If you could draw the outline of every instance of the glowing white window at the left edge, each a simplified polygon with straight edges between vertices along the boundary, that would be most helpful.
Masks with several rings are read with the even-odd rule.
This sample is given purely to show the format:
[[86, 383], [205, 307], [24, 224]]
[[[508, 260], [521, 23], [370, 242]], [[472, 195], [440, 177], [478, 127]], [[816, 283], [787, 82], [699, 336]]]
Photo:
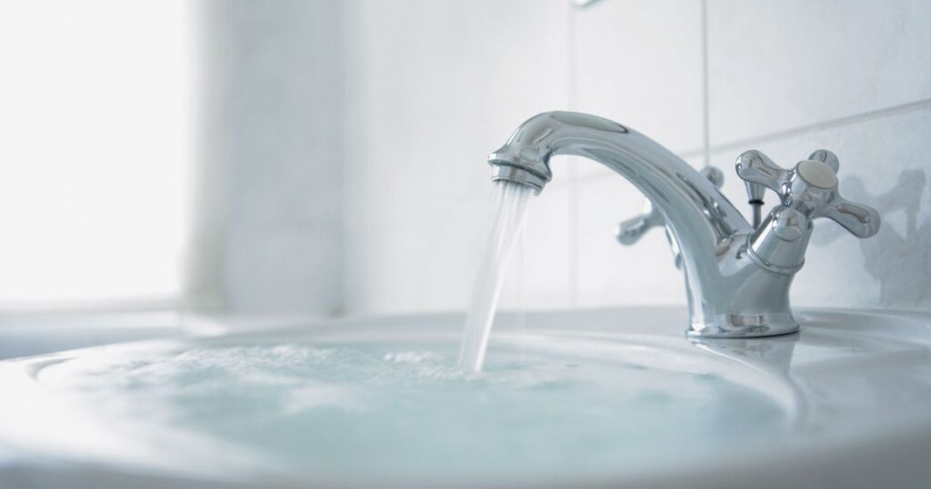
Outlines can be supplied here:
[[191, 4], [0, 0], [0, 307], [180, 297]]

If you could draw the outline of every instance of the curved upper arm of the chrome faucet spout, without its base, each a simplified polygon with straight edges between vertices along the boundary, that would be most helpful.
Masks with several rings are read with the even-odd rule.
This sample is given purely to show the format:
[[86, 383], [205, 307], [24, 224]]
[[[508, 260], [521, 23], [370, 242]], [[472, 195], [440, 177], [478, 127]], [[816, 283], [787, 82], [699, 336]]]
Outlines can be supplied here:
[[542, 190], [552, 178], [550, 158], [560, 155], [593, 159], [636, 185], [663, 214], [693, 276], [708, 274], [704, 268], [717, 263], [713, 258], [721, 254], [722, 243], [752, 230], [727, 197], [679, 156], [640, 132], [595, 115], [548, 112], [531, 117], [489, 156], [495, 167], [492, 180]]

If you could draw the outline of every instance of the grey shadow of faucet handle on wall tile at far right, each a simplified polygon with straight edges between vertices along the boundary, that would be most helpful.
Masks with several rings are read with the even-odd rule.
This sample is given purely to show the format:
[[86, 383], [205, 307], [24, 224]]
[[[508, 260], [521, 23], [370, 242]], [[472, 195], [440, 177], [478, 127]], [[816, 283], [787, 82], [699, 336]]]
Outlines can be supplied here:
[[[884, 220], [876, 236], [858, 240], [864, 268], [880, 283], [880, 306], [931, 306], [931, 216], [918, 224], [926, 183], [924, 170], [903, 170], [898, 183], [880, 195], [870, 195], [857, 176], [841, 184], [844, 197], [869, 202]], [[886, 219], [897, 211], [905, 211], [904, 235]], [[825, 246], [843, 235], [839, 226], [827, 227], [813, 235], [813, 244]]]

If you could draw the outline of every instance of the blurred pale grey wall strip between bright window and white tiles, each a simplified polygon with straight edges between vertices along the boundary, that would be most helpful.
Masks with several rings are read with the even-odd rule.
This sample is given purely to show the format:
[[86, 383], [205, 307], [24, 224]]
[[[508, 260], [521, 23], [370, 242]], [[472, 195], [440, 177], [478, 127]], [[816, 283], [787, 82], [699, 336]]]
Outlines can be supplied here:
[[342, 309], [342, 11], [331, 0], [204, 3], [203, 165], [193, 309]]

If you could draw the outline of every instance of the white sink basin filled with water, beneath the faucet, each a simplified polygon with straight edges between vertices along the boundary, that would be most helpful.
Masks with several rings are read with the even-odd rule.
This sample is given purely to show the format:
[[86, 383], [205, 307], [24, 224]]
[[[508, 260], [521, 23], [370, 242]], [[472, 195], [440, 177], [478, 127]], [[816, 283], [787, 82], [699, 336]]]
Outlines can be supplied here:
[[931, 318], [809, 310], [690, 340], [687, 313], [318, 321], [0, 362], [0, 485], [889, 487], [931, 482]]

